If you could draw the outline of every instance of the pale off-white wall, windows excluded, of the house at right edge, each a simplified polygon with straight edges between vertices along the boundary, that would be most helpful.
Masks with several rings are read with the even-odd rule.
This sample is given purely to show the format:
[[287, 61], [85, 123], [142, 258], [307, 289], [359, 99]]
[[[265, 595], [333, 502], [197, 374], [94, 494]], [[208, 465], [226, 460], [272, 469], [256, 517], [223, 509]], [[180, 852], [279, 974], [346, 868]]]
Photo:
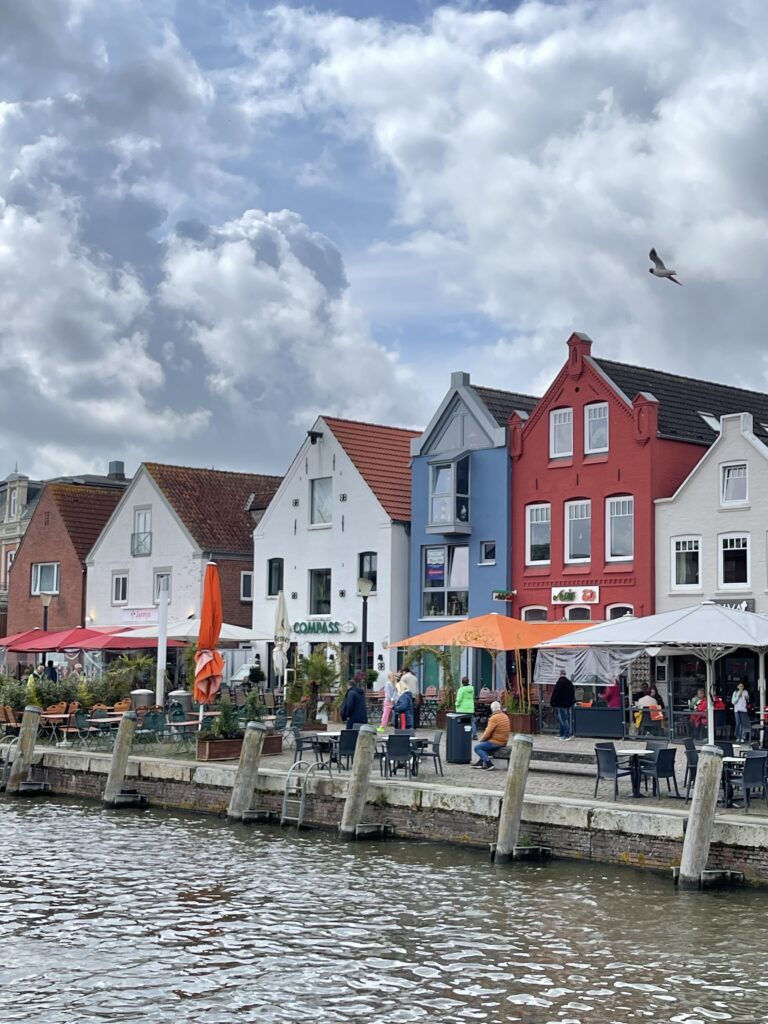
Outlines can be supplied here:
[[[695, 604], [707, 598], [733, 601], [754, 598], [756, 610], [768, 612], [768, 449], [752, 432], [749, 413], [724, 416], [721, 434], [672, 498], [656, 506], [656, 611]], [[746, 463], [748, 501], [741, 507], [720, 502], [721, 471], [726, 463]], [[719, 538], [722, 534], [750, 535], [750, 587], [721, 588], [718, 580]], [[672, 539], [698, 535], [700, 586], [675, 591], [672, 587]]]

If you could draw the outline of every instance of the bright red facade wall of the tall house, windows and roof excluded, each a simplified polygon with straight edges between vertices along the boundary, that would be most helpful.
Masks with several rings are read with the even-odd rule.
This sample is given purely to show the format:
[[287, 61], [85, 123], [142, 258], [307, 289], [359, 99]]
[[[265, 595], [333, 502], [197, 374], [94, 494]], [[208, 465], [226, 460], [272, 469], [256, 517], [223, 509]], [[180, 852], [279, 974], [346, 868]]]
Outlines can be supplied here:
[[[593, 620], [606, 618], [612, 604], [631, 604], [636, 615], [654, 610], [655, 510], [654, 498], [667, 497], [703, 455], [698, 444], [656, 437], [656, 410], [640, 398], [628, 406], [613, 387], [583, 356], [589, 344], [571, 338], [569, 360], [530, 419], [510, 427], [512, 457], [512, 587], [517, 596], [512, 614], [528, 605], [548, 608], [548, 617], [563, 618], [565, 608], [553, 606], [553, 587], [599, 587]], [[577, 349], [574, 352], [573, 349]], [[581, 350], [581, 351], [580, 351]], [[581, 356], [581, 357], [580, 357]], [[633, 400], [634, 395], [630, 395]], [[607, 401], [609, 451], [585, 455], [584, 407]], [[573, 410], [573, 455], [550, 459], [550, 410]], [[632, 495], [635, 499], [635, 556], [632, 561], [605, 558], [605, 501]], [[564, 561], [564, 503], [589, 499], [592, 503], [592, 559], [584, 564]], [[546, 566], [525, 565], [525, 517], [530, 504], [549, 502], [551, 560]]]

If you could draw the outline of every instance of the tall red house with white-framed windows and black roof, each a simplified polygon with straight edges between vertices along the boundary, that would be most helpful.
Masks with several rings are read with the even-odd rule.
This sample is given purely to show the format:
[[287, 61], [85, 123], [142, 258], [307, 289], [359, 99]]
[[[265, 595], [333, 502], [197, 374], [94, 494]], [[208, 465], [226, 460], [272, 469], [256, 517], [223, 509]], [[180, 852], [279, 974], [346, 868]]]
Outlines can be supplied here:
[[527, 420], [510, 419], [513, 614], [602, 620], [655, 604], [654, 500], [768, 396], [595, 358], [583, 334]]

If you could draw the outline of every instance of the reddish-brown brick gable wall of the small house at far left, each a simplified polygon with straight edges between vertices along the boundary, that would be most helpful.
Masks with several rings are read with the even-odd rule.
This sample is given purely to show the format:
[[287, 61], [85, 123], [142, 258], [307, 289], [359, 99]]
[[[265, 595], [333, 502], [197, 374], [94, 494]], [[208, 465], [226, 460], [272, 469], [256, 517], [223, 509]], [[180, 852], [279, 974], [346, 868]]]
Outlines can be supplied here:
[[[45, 523], [45, 513], [48, 523]], [[56, 504], [43, 490], [27, 532], [18, 546], [8, 587], [8, 633], [20, 633], [43, 625], [43, 606], [33, 596], [32, 566], [37, 562], [58, 562], [59, 593], [51, 598], [48, 608], [48, 629], [63, 630], [83, 625], [83, 563], [70, 541]]]

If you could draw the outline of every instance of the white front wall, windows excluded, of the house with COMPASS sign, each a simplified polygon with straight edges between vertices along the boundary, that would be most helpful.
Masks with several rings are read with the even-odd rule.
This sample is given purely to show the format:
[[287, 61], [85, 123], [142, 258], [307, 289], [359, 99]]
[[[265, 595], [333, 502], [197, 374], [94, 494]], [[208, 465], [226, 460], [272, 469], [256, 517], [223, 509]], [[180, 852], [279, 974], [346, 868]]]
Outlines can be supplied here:
[[[384, 656], [386, 671], [394, 669], [396, 651], [384, 644], [407, 636], [409, 539], [403, 525], [393, 523], [378, 499], [357, 472], [328, 425], [319, 420], [315, 429], [324, 436], [309, 439], [286, 475], [269, 508], [254, 531], [253, 628], [272, 634], [276, 598], [267, 596], [267, 562], [285, 559], [284, 591], [292, 623], [331, 618], [350, 623], [353, 631], [340, 635], [294, 635], [308, 649], [310, 642], [325, 638], [335, 643], [360, 643], [362, 601], [357, 596], [357, 556], [362, 551], [378, 555], [377, 592], [368, 602], [368, 640], [374, 644], [374, 665]], [[309, 522], [310, 487], [314, 477], [333, 478], [333, 522], [312, 526]], [[344, 501], [340, 495], [346, 495]], [[298, 505], [294, 505], [294, 502]], [[331, 568], [331, 613], [309, 614], [309, 569]], [[339, 596], [339, 591], [345, 596]], [[291, 595], [295, 593], [294, 598]], [[264, 662], [266, 647], [261, 645]]]

